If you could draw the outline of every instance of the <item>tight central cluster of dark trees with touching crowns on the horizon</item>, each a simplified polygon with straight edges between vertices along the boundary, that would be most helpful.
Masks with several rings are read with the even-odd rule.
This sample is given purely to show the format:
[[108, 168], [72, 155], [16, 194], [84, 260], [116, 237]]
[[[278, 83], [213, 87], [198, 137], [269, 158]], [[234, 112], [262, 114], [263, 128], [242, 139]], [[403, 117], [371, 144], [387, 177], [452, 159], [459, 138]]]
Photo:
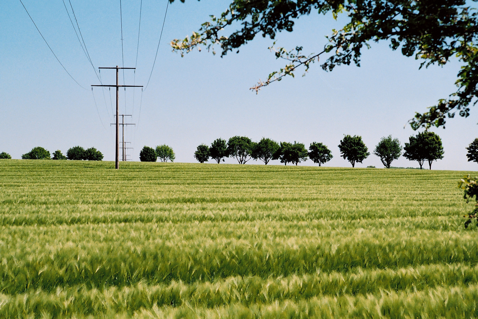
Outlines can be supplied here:
[[293, 163], [295, 165], [310, 158], [319, 166], [333, 157], [330, 150], [322, 143], [311, 143], [309, 151], [303, 143], [277, 143], [274, 140], [263, 137], [259, 142], [252, 142], [246, 136], [234, 136], [227, 142], [221, 138], [216, 139], [211, 146], [201, 144], [197, 146], [194, 157], [204, 163], [212, 158], [219, 164], [226, 157], [234, 157], [239, 164], [246, 164], [250, 159], [261, 160], [265, 165], [271, 160], [280, 160], [281, 163]]

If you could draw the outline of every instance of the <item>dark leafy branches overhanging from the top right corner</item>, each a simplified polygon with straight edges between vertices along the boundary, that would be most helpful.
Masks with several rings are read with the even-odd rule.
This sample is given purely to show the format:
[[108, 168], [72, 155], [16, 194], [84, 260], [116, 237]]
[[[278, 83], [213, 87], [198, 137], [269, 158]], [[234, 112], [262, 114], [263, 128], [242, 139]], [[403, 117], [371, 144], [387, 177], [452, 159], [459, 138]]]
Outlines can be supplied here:
[[[174, 0], [171, 0], [171, 2]], [[184, 0], [181, 0], [184, 2]], [[468, 2], [469, 3], [469, 2]], [[445, 118], [469, 115], [470, 104], [478, 97], [478, 15], [465, 0], [234, 0], [219, 17], [201, 25], [198, 32], [183, 40], [171, 42], [173, 51], [184, 55], [195, 47], [206, 46], [221, 56], [229, 51], [239, 52], [258, 34], [274, 39], [282, 31], [292, 32], [294, 21], [315, 11], [319, 14], [348, 16], [348, 23], [340, 30], [332, 30], [328, 43], [317, 54], [304, 55], [302, 46], [293, 50], [272, 46], [276, 58], [287, 60], [286, 66], [272, 72], [267, 80], [251, 89], [256, 92], [280, 81], [285, 76], [311, 64], [326, 55], [322, 68], [332, 71], [335, 66], [355, 63], [360, 66], [362, 49], [370, 43], [386, 41], [391, 50], [400, 49], [405, 56], [422, 60], [422, 66], [443, 66], [456, 56], [463, 68], [458, 73], [458, 90], [427, 112], [415, 113], [412, 128], [444, 126]], [[238, 30], [223, 31], [240, 25]], [[314, 35], [313, 38], [317, 38]], [[275, 42], [274, 42], [275, 44]], [[304, 73], [305, 74], [305, 73]]]

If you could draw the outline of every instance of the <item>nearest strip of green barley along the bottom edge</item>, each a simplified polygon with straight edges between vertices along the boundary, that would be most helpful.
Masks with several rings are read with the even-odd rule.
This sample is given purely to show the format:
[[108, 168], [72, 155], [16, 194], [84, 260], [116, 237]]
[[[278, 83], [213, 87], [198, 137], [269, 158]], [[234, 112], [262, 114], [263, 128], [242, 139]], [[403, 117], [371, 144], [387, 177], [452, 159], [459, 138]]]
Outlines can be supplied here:
[[[337, 278], [339, 279], [339, 278]], [[0, 295], [0, 317], [84, 318], [133, 314], [139, 318], [476, 318], [478, 285], [433, 286], [424, 290], [374, 291], [374, 294], [322, 295], [306, 291], [304, 278], [283, 278], [274, 286], [260, 279], [228, 279], [228, 286], [137, 285], [122, 289], [57, 289]], [[279, 280], [277, 280], [279, 281]], [[340, 282], [340, 280], [337, 280]], [[246, 291], [240, 291], [247, 284]], [[216, 285], [218, 286], [218, 285]], [[235, 288], [231, 288], [234, 286]], [[223, 289], [224, 288], [224, 289]], [[281, 289], [282, 288], [282, 289]], [[258, 290], [261, 289], [261, 290]], [[276, 289], [276, 290], [274, 290]], [[280, 293], [283, 295], [280, 295]], [[316, 293], [317, 292], [317, 293]], [[248, 295], [249, 294], [249, 295]], [[141, 316], [143, 315], [143, 316]], [[146, 315], [146, 316], [144, 316]]]

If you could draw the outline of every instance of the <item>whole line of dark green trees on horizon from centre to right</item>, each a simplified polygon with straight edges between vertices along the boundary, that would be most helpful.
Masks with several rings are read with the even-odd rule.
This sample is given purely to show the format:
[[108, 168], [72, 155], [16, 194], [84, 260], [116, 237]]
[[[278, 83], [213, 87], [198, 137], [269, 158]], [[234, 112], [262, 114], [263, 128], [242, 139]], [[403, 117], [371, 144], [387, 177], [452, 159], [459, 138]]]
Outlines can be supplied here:
[[[478, 149], [478, 139], [476, 148]], [[356, 163], [362, 163], [370, 153], [368, 147], [358, 135], [345, 135], [338, 145], [340, 156], [348, 160], [352, 167]], [[424, 161], [428, 161], [430, 169], [432, 162], [443, 158], [443, 145], [440, 137], [434, 132], [421, 132], [416, 136], [410, 136], [409, 143], [402, 148], [398, 139], [392, 139], [391, 135], [382, 137], [375, 147], [373, 154], [380, 157], [382, 164], [390, 168], [391, 163], [402, 155], [411, 161], [418, 161], [420, 169]], [[303, 143], [281, 142], [277, 143], [269, 138], [263, 137], [259, 142], [252, 142], [246, 136], [234, 136], [227, 142], [221, 138], [216, 139], [211, 146], [201, 144], [197, 146], [194, 157], [204, 163], [209, 158], [214, 159], [217, 164], [224, 162], [226, 157], [234, 157], [239, 164], [246, 164], [250, 159], [261, 160], [265, 165], [270, 160], [280, 160], [281, 163], [293, 163], [295, 165], [310, 158], [319, 166], [332, 159], [332, 153], [323, 143], [313, 142], [308, 151]], [[477, 155], [478, 157], [478, 155]]]

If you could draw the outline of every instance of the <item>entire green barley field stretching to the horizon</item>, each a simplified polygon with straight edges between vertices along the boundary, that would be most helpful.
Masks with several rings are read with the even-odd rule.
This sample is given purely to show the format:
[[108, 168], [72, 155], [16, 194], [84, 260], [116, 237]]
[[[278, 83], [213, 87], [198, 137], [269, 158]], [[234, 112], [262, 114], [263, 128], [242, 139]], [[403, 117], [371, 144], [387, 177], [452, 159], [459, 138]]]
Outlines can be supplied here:
[[477, 172], [0, 160], [0, 318], [478, 318]]

